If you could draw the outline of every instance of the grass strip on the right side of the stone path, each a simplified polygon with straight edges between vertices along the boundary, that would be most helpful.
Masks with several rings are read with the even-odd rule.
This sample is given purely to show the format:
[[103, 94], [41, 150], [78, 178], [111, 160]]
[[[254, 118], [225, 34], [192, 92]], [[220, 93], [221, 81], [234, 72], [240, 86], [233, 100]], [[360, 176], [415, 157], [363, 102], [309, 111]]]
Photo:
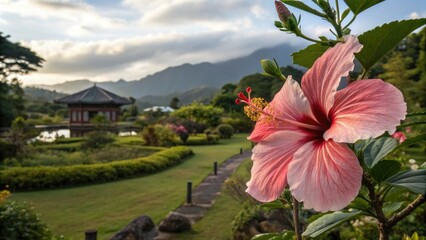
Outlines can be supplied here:
[[[248, 179], [250, 159], [246, 159], [234, 175], [246, 176]], [[173, 235], [172, 240], [227, 240], [232, 239], [232, 220], [241, 210], [241, 203], [227, 193], [222, 193], [216, 199], [201, 221], [192, 225], [192, 231]], [[212, 227], [214, 226], [214, 227]]]

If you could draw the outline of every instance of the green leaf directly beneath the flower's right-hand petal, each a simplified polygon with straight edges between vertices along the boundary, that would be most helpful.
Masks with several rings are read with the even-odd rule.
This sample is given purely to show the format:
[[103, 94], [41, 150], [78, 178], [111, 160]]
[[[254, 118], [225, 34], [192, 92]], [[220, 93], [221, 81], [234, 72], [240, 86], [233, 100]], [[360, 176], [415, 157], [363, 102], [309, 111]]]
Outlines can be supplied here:
[[364, 149], [364, 162], [369, 168], [374, 167], [398, 145], [394, 138], [382, 137], [370, 143]]

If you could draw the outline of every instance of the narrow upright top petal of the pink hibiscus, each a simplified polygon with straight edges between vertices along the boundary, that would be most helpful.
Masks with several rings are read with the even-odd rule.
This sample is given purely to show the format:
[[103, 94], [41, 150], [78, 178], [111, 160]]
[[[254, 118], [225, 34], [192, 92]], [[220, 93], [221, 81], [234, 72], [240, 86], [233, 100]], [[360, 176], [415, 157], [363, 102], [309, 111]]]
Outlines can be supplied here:
[[361, 48], [355, 36], [348, 36], [345, 43], [329, 48], [303, 76], [303, 92], [321, 124], [327, 124], [328, 112], [333, 106], [341, 77], [348, 76], [349, 71], [353, 70], [354, 53], [361, 51]]

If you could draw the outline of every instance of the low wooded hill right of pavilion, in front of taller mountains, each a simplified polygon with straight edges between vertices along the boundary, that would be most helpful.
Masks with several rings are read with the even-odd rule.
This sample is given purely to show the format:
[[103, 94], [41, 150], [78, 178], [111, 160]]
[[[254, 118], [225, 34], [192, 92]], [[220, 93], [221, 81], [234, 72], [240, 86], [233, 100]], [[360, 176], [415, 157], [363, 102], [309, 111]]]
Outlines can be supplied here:
[[144, 109], [152, 106], [169, 106], [174, 97], [179, 99], [179, 105], [188, 105], [194, 101], [209, 103], [216, 93], [219, 91], [213, 87], [198, 87], [183, 93], [171, 93], [163, 96], [147, 95], [136, 100], [136, 105], [139, 109]]

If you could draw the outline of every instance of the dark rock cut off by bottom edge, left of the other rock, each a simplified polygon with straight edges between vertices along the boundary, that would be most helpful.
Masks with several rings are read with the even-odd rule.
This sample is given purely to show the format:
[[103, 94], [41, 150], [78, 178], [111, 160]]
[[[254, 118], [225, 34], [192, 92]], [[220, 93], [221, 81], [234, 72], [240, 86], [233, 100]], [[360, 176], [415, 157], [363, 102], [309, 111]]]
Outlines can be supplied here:
[[110, 240], [152, 240], [157, 234], [152, 219], [143, 215], [133, 220]]

